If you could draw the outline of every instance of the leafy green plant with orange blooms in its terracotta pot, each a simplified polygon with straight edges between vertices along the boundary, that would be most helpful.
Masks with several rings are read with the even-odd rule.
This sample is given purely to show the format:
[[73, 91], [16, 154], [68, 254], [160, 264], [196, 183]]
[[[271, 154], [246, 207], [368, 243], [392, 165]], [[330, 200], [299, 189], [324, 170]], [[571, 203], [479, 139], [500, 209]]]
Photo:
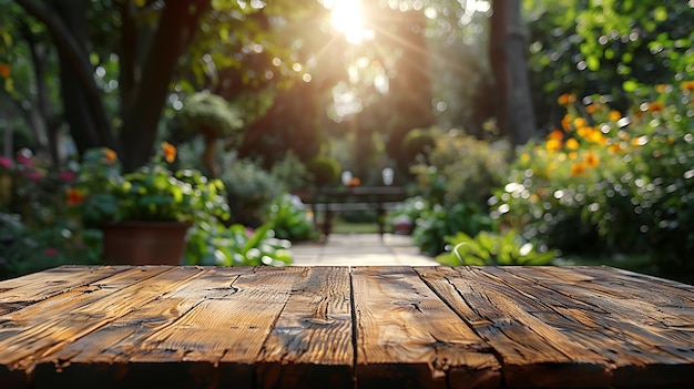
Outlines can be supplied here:
[[172, 171], [175, 157], [163, 142], [150, 163], [123, 173], [112, 150], [84, 153], [71, 196], [83, 223], [103, 231], [104, 262], [177, 265], [188, 227], [228, 217], [224, 184], [197, 170]]

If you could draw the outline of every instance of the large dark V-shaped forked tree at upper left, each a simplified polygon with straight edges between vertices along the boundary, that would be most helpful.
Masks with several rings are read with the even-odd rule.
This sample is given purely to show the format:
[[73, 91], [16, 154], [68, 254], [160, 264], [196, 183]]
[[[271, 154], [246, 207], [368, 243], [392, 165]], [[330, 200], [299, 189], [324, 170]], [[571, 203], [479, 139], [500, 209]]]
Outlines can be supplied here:
[[[17, 3], [45, 25], [58, 50], [64, 115], [78, 150], [110, 146], [120, 152], [126, 168], [145, 163], [178, 59], [193, 41], [212, 1], [115, 0], [99, 4], [90, 0], [17, 0]], [[217, 3], [227, 7], [231, 1]], [[90, 34], [94, 21], [103, 23], [96, 27], [102, 29], [100, 37]], [[94, 54], [96, 65], [92, 63]], [[95, 70], [113, 54], [119, 61], [114, 81], [121, 101], [119, 112], [110, 115]]]

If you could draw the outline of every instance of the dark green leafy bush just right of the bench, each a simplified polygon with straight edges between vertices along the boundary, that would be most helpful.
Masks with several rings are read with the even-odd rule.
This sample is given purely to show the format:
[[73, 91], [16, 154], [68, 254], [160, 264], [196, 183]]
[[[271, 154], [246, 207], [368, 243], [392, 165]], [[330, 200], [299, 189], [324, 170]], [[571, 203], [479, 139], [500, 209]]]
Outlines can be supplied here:
[[446, 237], [459, 232], [477, 235], [493, 229], [492, 219], [476, 203], [458, 203], [449, 207], [436, 204], [421, 212], [412, 232], [412, 243], [428, 255], [438, 255], [446, 247]]

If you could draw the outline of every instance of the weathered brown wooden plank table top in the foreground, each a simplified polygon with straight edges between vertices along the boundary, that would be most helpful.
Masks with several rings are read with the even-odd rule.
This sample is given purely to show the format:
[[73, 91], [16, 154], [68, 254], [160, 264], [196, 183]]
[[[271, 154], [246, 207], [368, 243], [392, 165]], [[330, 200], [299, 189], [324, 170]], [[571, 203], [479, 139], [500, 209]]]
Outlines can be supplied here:
[[0, 388], [694, 386], [694, 287], [608, 267], [64, 266], [0, 314]]

